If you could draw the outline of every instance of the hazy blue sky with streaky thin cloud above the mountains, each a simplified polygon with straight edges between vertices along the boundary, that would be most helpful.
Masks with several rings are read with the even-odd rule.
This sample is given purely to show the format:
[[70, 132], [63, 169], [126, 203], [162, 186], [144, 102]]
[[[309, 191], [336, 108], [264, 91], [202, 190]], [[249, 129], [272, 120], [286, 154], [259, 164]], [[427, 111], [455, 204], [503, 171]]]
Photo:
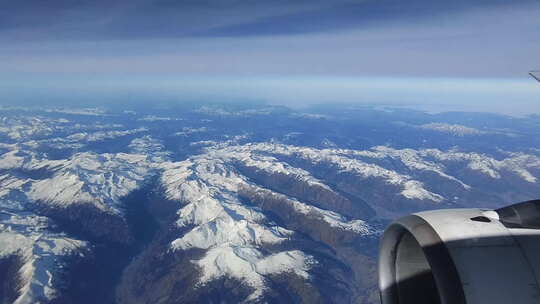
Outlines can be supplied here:
[[540, 0], [20, 0], [0, 103], [138, 95], [540, 113]]

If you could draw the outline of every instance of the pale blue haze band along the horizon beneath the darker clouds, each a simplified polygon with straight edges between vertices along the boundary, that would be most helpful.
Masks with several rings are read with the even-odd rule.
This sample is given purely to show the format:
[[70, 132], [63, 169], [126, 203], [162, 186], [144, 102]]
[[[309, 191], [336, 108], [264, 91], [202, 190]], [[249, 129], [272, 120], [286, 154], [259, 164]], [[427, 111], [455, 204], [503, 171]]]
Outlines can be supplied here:
[[[4, 82], [6, 105], [108, 103], [258, 102], [292, 108], [316, 104], [406, 107], [428, 112], [540, 114], [540, 86], [533, 79], [388, 77], [109, 77]], [[6, 85], [7, 84], [7, 85]]]

